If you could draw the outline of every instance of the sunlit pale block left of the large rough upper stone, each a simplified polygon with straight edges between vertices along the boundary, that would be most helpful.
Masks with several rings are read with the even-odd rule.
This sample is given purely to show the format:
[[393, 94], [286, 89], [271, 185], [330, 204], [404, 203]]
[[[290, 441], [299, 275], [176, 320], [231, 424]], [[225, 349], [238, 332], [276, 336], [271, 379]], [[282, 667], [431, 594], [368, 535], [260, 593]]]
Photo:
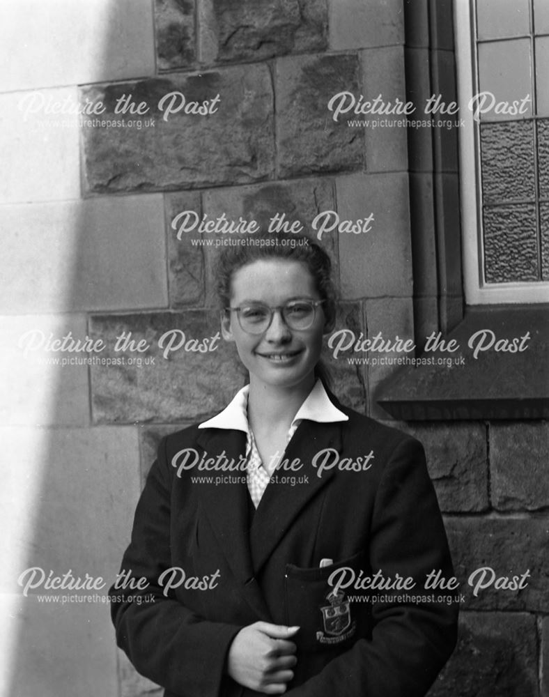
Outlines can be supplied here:
[[[24, 33], [26, 35], [26, 30]], [[17, 35], [18, 42], [21, 36]], [[3, 47], [0, 40], [0, 51]], [[10, 66], [14, 62], [17, 63], [9, 59]], [[3, 64], [8, 63], [4, 61]], [[10, 74], [11, 70], [3, 72]], [[65, 103], [78, 105], [75, 87], [0, 94], [2, 204], [80, 196], [78, 120], [70, 115], [45, 113], [48, 105], [54, 108]], [[29, 233], [38, 238], [37, 231]], [[36, 247], [36, 240], [32, 246]]]

